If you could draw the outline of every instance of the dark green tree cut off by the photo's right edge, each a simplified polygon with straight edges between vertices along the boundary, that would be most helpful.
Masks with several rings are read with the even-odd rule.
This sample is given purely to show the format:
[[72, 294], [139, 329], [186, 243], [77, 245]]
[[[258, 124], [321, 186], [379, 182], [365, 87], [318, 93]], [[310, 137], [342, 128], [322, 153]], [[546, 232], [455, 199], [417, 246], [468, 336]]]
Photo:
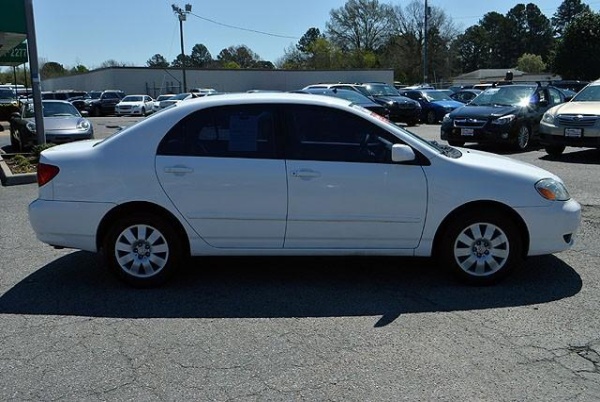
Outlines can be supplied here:
[[566, 79], [600, 77], [600, 14], [584, 12], [566, 26], [552, 70]]

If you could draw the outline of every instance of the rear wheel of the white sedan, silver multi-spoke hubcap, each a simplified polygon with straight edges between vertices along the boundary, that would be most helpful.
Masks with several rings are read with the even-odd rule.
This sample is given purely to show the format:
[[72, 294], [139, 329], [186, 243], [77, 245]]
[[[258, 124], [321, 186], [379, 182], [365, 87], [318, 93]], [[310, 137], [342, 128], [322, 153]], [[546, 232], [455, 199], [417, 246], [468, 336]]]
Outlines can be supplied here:
[[109, 269], [140, 288], [165, 283], [182, 259], [181, 240], [169, 222], [145, 213], [117, 220], [104, 240], [104, 250]]

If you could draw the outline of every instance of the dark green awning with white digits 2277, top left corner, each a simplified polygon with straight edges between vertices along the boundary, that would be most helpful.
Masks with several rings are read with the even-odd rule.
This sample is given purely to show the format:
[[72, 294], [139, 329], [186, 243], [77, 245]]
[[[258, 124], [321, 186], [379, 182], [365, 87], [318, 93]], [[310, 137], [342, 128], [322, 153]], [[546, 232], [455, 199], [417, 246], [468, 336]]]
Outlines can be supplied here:
[[27, 39], [25, 2], [23, 0], [2, 0], [0, 12], [0, 56]]

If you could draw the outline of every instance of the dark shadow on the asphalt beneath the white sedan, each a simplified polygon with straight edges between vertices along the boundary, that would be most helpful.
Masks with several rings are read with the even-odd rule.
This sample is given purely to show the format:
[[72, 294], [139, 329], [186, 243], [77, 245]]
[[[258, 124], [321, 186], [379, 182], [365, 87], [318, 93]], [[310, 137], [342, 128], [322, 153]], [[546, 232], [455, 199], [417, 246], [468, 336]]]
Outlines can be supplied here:
[[194, 258], [161, 288], [116, 280], [97, 254], [76, 251], [0, 297], [1, 314], [113, 318], [296, 318], [465, 311], [548, 303], [577, 294], [579, 275], [555, 256], [530, 258], [505, 281], [458, 284], [429, 259]]

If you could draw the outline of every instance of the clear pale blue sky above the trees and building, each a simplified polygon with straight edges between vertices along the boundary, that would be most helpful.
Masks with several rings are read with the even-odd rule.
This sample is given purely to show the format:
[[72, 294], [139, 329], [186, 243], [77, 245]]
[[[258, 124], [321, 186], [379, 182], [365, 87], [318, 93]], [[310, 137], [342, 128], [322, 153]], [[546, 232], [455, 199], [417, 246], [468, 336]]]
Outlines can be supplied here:
[[[1, 2], [2, 0], [0, 0]], [[405, 7], [411, 0], [380, 0]], [[423, 0], [424, 2], [424, 0]], [[552, 18], [562, 0], [427, 0], [464, 30], [488, 12], [506, 14], [519, 3], [536, 4]], [[89, 69], [107, 60], [145, 66], [155, 54], [173, 61], [181, 52], [179, 20], [172, 5], [192, 11], [183, 22], [187, 55], [197, 44], [213, 58], [230, 46], [245, 45], [276, 63], [311, 28], [325, 32], [330, 11], [346, 0], [32, 0], [38, 57], [69, 69]], [[598, 12], [600, 0], [583, 0]]]

